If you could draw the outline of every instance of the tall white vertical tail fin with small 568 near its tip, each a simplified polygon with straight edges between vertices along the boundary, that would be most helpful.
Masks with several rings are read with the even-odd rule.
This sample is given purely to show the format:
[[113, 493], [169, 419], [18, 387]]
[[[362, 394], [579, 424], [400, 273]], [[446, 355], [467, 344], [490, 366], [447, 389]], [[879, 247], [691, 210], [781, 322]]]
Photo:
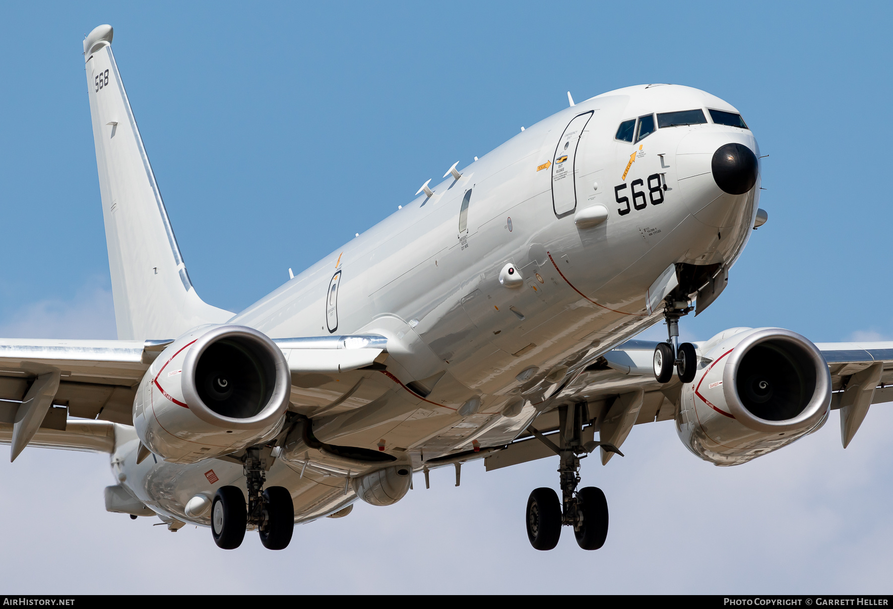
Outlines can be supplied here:
[[105, 241], [120, 339], [175, 338], [233, 313], [196, 294], [112, 54], [113, 30], [84, 40]]

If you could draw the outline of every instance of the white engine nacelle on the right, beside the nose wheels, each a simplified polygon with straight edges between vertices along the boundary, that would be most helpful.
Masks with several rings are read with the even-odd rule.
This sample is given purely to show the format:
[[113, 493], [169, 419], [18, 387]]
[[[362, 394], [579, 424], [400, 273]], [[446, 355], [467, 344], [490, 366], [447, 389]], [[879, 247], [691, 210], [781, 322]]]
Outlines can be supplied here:
[[808, 339], [780, 328], [740, 328], [703, 347], [695, 380], [682, 387], [676, 430], [705, 461], [747, 463], [827, 420], [828, 364]]

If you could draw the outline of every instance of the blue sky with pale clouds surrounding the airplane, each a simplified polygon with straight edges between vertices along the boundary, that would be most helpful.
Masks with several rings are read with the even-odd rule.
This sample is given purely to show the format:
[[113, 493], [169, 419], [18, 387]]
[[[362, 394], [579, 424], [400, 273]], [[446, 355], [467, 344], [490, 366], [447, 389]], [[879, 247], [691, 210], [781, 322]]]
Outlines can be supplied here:
[[[737, 106], [770, 154], [769, 222], [683, 336], [772, 325], [816, 341], [893, 338], [891, 16], [882, 3], [4, 4], [0, 335], [114, 338], [80, 54], [83, 35], [111, 23], [209, 303], [246, 307], [426, 179], [561, 110], [567, 90], [580, 100], [672, 82]], [[597, 553], [571, 536], [553, 553], [527, 545], [523, 505], [530, 488], [554, 486], [551, 460], [466, 466], [460, 488], [436, 471], [430, 491], [299, 527], [270, 555], [255, 539], [227, 554], [206, 530], [171, 535], [105, 513], [102, 455], [32, 448], [0, 467], [12, 529], [0, 581], [11, 592], [889, 592], [888, 408], [872, 409], [846, 451], [834, 415], [731, 469], [690, 455], [672, 423], [638, 426], [628, 457], [584, 468], [612, 507]], [[183, 555], [188, 574], [171, 563], [157, 579], [159, 562]], [[271, 563], [270, 580], [246, 581], [242, 558]]]

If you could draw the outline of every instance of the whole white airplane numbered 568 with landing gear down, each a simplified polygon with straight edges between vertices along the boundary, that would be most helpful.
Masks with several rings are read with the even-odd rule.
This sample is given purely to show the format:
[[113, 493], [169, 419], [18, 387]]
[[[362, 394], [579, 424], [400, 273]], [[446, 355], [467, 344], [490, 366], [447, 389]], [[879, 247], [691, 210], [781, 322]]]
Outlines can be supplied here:
[[[695, 88], [622, 88], [429, 179], [411, 203], [240, 313], [189, 280], [112, 54], [84, 40], [118, 340], [0, 339], [0, 440], [111, 455], [110, 512], [246, 530], [391, 505], [421, 472], [559, 455], [527, 505], [533, 547], [563, 526], [603, 546], [580, 464], [637, 423], [747, 463], [839, 409], [844, 447], [893, 400], [893, 343], [732, 328], [679, 344], [766, 221], [760, 151]], [[630, 339], [659, 321], [668, 338]], [[888, 370], [885, 370], [887, 368]], [[598, 434], [596, 438], [596, 434]], [[419, 483], [420, 480], [416, 480]]]

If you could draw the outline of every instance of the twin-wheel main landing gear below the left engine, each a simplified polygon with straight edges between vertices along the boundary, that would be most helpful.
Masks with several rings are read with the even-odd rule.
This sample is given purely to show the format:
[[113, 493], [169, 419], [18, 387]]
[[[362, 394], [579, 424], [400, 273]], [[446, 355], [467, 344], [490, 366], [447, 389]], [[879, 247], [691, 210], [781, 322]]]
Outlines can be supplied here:
[[211, 505], [214, 543], [224, 550], [235, 549], [245, 538], [246, 526], [253, 524], [260, 533], [264, 547], [283, 550], [288, 547], [295, 530], [295, 505], [291, 493], [285, 487], [261, 490], [266, 473], [260, 448], [247, 449], [244, 468], [248, 485], [247, 509], [240, 488], [228, 486], [217, 489]]

